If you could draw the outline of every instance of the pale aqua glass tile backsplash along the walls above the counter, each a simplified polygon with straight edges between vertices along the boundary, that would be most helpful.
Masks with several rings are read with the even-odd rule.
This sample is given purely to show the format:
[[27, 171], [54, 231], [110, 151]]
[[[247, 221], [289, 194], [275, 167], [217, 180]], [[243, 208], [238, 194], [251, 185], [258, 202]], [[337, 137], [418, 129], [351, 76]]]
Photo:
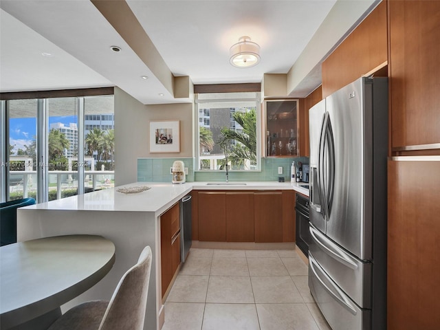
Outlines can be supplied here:
[[[184, 162], [188, 167], [186, 181], [225, 181], [225, 171], [195, 171], [195, 158], [138, 158], [137, 159], [137, 181], [145, 182], [170, 182], [170, 168], [175, 160]], [[284, 177], [285, 181], [290, 180], [290, 166], [292, 162], [303, 162], [309, 164], [308, 157], [283, 157], [263, 158], [261, 171], [230, 171], [229, 181], [278, 181], [278, 177]], [[278, 174], [278, 167], [283, 168], [283, 174]]]

